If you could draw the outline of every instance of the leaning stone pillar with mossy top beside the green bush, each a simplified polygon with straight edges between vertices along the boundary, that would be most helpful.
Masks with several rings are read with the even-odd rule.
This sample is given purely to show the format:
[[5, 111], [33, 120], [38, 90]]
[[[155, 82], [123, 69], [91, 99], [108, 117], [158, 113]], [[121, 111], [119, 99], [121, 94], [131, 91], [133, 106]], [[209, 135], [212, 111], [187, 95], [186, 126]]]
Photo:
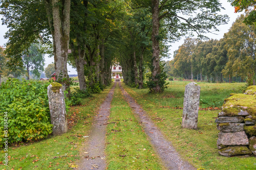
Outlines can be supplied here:
[[53, 135], [68, 131], [65, 96], [62, 85], [56, 82], [47, 87]]

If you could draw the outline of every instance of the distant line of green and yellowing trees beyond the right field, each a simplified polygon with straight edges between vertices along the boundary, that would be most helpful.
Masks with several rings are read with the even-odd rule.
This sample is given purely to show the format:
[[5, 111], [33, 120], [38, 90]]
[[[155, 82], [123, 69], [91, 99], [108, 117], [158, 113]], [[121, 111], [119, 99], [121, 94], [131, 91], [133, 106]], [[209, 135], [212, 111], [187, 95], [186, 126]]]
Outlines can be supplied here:
[[255, 72], [254, 25], [245, 25], [241, 15], [220, 40], [185, 39], [174, 53], [174, 60], [166, 61], [168, 76], [216, 82], [248, 81]]

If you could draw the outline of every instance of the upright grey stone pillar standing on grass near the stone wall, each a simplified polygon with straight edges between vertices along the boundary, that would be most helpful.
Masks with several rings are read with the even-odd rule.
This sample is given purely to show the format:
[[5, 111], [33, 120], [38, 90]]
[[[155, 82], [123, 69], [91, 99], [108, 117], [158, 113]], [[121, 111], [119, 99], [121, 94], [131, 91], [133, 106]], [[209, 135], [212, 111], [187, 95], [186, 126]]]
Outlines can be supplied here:
[[200, 86], [191, 82], [185, 86], [182, 124], [183, 128], [197, 129]]

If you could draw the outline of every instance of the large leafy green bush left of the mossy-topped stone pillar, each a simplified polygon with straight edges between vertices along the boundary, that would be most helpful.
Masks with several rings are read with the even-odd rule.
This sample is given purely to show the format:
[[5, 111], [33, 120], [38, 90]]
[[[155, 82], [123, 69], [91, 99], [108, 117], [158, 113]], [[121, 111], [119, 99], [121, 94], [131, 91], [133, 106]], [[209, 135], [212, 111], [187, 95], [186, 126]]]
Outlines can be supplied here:
[[4, 114], [8, 115], [8, 142], [38, 140], [52, 133], [47, 86], [49, 83], [9, 79], [0, 86], [0, 148]]

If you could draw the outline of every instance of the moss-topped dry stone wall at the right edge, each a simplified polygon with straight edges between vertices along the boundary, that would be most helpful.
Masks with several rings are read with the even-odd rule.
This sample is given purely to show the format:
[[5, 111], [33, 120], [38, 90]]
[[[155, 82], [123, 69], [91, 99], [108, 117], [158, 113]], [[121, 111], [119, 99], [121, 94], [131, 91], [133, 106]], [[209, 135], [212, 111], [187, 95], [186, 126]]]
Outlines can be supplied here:
[[256, 155], [256, 86], [243, 94], [231, 93], [225, 99], [216, 119], [220, 130], [217, 140], [219, 154], [223, 156]]

